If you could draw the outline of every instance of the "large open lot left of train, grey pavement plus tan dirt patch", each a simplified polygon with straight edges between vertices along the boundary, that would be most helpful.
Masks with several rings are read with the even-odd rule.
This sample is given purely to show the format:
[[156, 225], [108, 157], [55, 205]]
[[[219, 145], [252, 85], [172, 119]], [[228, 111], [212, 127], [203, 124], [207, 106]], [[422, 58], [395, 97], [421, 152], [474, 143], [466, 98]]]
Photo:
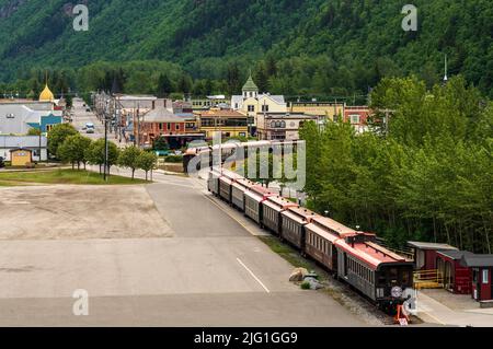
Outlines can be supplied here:
[[[289, 283], [293, 267], [193, 179], [169, 178], [0, 189], [2, 210], [19, 211], [0, 228], [0, 325], [365, 325]], [[89, 316], [72, 313], [77, 289]]]

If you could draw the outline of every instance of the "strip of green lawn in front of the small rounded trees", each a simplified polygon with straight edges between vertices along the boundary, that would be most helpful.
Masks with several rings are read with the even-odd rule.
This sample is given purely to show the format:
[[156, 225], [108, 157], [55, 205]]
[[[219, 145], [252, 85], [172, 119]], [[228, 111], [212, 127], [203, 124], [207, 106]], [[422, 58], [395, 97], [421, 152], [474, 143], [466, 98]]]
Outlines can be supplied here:
[[115, 185], [144, 184], [142, 179], [131, 179], [121, 176], [110, 176], [107, 182], [99, 173], [77, 170], [26, 171], [0, 173], [0, 186], [23, 184], [79, 184], [79, 185]]

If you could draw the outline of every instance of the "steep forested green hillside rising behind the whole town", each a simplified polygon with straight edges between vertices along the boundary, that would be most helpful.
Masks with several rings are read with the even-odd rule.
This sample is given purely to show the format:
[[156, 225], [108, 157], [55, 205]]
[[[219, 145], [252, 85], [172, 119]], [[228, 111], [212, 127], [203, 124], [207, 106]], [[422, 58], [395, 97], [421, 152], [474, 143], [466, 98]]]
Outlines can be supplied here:
[[[351, 95], [366, 94], [387, 75], [415, 73], [432, 85], [447, 54], [450, 74], [493, 95], [490, 0], [415, 0], [419, 31], [408, 33], [401, 28], [405, 2], [398, 0], [85, 2], [90, 30], [74, 32], [67, 1], [0, 0], [0, 79], [31, 79], [33, 68], [160, 60], [216, 80], [213, 90], [237, 88], [228, 81], [233, 67], [241, 74], [234, 80], [251, 68], [273, 92]], [[177, 66], [167, 65], [175, 67], [169, 73], [181, 71]], [[123, 67], [128, 79], [134, 68]], [[173, 83], [180, 90], [180, 78]]]

